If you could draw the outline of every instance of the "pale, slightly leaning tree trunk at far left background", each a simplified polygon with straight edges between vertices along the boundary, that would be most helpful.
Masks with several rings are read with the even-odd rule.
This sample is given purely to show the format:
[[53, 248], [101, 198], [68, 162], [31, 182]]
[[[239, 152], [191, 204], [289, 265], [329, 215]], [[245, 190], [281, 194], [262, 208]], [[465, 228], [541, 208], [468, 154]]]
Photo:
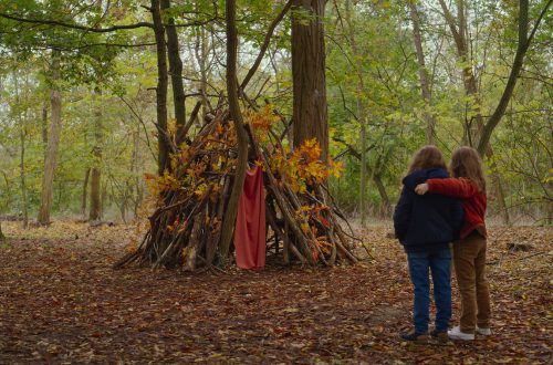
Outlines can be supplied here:
[[50, 211], [52, 209], [53, 182], [55, 166], [58, 163], [58, 149], [60, 145], [60, 135], [62, 128], [62, 96], [56, 84], [60, 79], [60, 52], [53, 51], [51, 77], [53, 82], [50, 91], [50, 104], [52, 108], [52, 122], [50, 125], [50, 134], [48, 137], [46, 158], [44, 160], [44, 174], [42, 176], [41, 204], [38, 221], [41, 225], [50, 223]]

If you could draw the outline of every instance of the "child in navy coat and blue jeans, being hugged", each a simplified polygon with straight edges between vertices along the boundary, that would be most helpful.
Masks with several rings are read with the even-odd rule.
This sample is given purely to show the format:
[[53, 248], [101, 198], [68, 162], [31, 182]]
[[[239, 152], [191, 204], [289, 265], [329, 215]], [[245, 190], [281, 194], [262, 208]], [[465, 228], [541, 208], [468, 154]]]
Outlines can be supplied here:
[[451, 317], [451, 249], [463, 222], [461, 200], [437, 195], [418, 196], [415, 187], [427, 179], [447, 178], [449, 174], [440, 150], [426, 146], [411, 161], [404, 188], [394, 211], [394, 229], [407, 252], [415, 300], [415, 331], [401, 338], [428, 341], [429, 271], [432, 275], [436, 322], [432, 336], [447, 341]]

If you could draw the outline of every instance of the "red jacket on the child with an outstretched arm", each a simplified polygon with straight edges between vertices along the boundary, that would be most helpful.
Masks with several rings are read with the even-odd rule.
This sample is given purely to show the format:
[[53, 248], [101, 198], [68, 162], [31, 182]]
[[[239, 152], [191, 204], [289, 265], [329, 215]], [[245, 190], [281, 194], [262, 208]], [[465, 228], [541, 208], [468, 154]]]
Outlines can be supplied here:
[[462, 198], [465, 223], [460, 232], [461, 239], [472, 233], [474, 229], [483, 237], [487, 237], [484, 222], [487, 197], [484, 192], [478, 190], [474, 182], [462, 177], [429, 179], [426, 182], [429, 192]]

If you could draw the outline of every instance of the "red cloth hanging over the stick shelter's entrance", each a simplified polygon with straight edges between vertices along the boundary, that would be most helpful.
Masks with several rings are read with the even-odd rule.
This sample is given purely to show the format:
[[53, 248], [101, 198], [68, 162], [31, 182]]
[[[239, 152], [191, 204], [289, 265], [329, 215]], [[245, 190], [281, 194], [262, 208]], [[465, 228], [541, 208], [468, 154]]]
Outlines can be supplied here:
[[265, 194], [263, 169], [255, 165], [246, 173], [234, 229], [237, 265], [259, 270], [265, 265]]

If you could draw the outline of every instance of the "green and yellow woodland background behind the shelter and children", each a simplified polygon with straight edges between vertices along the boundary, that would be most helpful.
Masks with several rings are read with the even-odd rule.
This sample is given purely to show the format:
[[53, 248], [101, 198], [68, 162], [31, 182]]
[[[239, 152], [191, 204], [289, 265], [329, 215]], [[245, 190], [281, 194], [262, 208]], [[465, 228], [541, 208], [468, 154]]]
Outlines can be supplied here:
[[[328, 152], [345, 166], [331, 191], [363, 222], [389, 217], [416, 149], [435, 143], [449, 157], [459, 145], [478, 145], [478, 124], [495, 111], [520, 48], [519, 2], [319, 2]], [[284, 4], [238, 1], [239, 80]], [[550, 4], [528, 8], [531, 43], [484, 158], [489, 216], [503, 222], [552, 217]], [[186, 119], [198, 100], [209, 114], [226, 93], [225, 2], [0, 2], [1, 216], [27, 225], [50, 213], [129, 221], [140, 212], [144, 174], [156, 173], [159, 155], [155, 7], [177, 24]], [[244, 90], [286, 121], [291, 17], [278, 23]]]

